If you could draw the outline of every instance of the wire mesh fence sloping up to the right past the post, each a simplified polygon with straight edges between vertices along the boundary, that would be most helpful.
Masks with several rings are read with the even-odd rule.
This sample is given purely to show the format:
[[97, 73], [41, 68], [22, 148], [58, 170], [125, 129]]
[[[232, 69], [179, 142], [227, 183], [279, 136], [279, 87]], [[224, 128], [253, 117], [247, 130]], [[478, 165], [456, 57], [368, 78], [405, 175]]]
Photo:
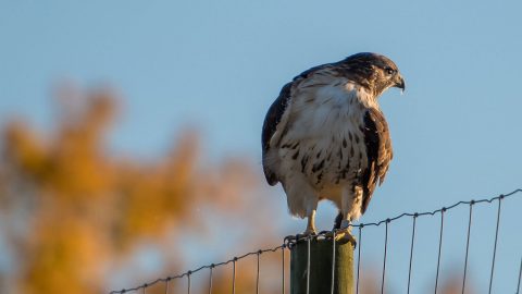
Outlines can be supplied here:
[[[490, 267], [489, 267], [489, 281], [488, 281], [488, 294], [492, 293], [493, 284], [494, 284], [494, 273], [495, 273], [495, 264], [496, 264], [496, 257], [497, 257], [497, 244], [498, 244], [498, 233], [499, 233], [499, 228], [500, 228], [500, 219], [501, 219], [501, 211], [502, 211], [502, 203], [506, 201], [508, 198], [514, 198], [517, 196], [522, 196], [522, 189], [515, 189], [511, 193], [508, 194], [501, 194], [499, 196], [488, 198], [488, 199], [480, 199], [480, 200], [468, 200], [468, 201], [459, 201], [456, 203], [451, 206], [448, 207], [443, 207], [433, 211], [426, 211], [426, 212], [413, 212], [413, 213], [402, 213], [394, 218], [388, 218], [381, 220], [378, 222], [369, 222], [369, 223], [359, 223], [359, 224], [350, 224], [352, 228], [358, 229], [358, 246], [357, 246], [357, 270], [356, 270], [356, 293], [359, 294], [360, 292], [360, 280], [361, 280], [361, 247], [363, 244], [363, 237], [364, 237], [364, 228], [369, 226], [380, 226], [383, 225], [385, 226], [385, 236], [384, 236], [384, 258], [383, 258], [383, 264], [382, 264], [382, 279], [381, 279], [381, 293], [385, 293], [386, 289], [386, 261], [387, 261], [387, 252], [388, 252], [388, 226], [391, 222], [397, 221], [399, 219], [403, 218], [411, 218], [411, 236], [409, 238], [410, 243], [410, 248], [409, 248], [409, 268], [408, 268], [408, 283], [407, 283], [407, 293], [410, 293], [410, 285], [412, 281], [412, 270], [413, 270], [413, 259], [414, 259], [414, 250], [415, 250], [415, 230], [417, 230], [417, 222], [418, 219], [421, 217], [435, 217], [439, 216], [439, 229], [438, 229], [438, 254], [437, 254], [437, 267], [436, 267], [436, 274], [435, 274], [435, 285], [434, 285], [434, 293], [437, 293], [437, 290], [439, 287], [439, 273], [440, 273], [440, 258], [443, 254], [443, 244], [444, 244], [444, 229], [445, 229], [445, 216], [452, 209], [459, 206], [469, 206], [469, 213], [468, 213], [468, 228], [467, 228], [467, 237], [465, 237], [465, 257], [464, 257], [464, 266], [463, 266], [463, 273], [462, 273], [462, 285], [461, 285], [461, 293], [465, 292], [467, 289], [467, 275], [468, 275], [468, 264], [469, 264], [469, 253], [470, 253], [470, 235], [472, 232], [472, 225], [473, 225], [473, 208], [477, 205], [484, 204], [484, 205], [494, 205], [497, 204], [497, 209], [496, 209], [496, 222], [495, 222], [495, 238], [494, 238], [494, 246], [493, 246], [493, 254], [490, 256]], [[522, 224], [522, 223], [520, 223]], [[520, 229], [520, 228], [519, 228]], [[522, 230], [522, 229], [521, 229]], [[521, 234], [522, 231], [519, 231], [518, 233]], [[171, 283], [174, 280], [181, 280], [181, 279], [186, 279], [187, 282], [187, 289], [186, 293], [190, 294], [191, 293], [191, 277], [200, 272], [202, 270], [208, 270], [208, 283], [204, 287], [207, 287], [207, 293], [211, 294], [212, 293], [212, 287], [213, 287], [213, 272], [216, 268], [219, 267], [224, 267], [226, 265], [232, 264], [232, 293], [236, 293], [236, 267], [238, 261], [241, 259], [245, 259], [249, 256], [256, 256], [257, 257], [257, 273], [256, 273], [256, 293], [259, 293], [260, 289], [260, 257], [263, 253], [279, 253], [281, 254], [281, 293], [285, 294], [286, 291], [286, 282], [285, 282], [285, 271], [287, 270], [288, 265], [285, 265], [285, 253], [297, 243], [297, 242], [307, 242], [308, 243], [308, 270], [307, 270], [307, 283], [310, 281], [310, 241], [311, 240], [316, 240], [316, 238], [331, 238], [335, 237], [335, 234], [337, 233], [336, 230], [334, 231], [323, 231], [320, 232], [318, 235], [296, 235], [290, 237], [286, 237], [283, 242], [283, 244], [274, 246], [272, 248], [266, 248], [266, 249], [259, 249], [256, 252], [250, 252], [247, 254], [244, 254], [241, 256], [234, 257], [229, 260], [219, 262], [219, 264], [210, 264], [206, 265], [202, 267], [199, 267], [194, 270], [188, 270], [186, 272], [179, 273], [177, 275], [170, 275], [166, 278], [160, 278], [154, 281], [144, 283], [141, 285], [137, 285], [134, 287], [129, 289], [122, 289], [117, 291], [112, 291], [110, 294], [119, 294], [119, 293], [130, 293], [130, 292], [138, 292], [138, 293], [146, 293], [147, 289], [158, 285], [160, 283], [164, 284], [164, 293], [169, 294], [171, 293], [170, 286]], [[335, 243], [333, 243], [335, 246]], [[522, 254], [522, 248], [519, 248], [519, 254]], [[333, 255], [335, 255], [335, 247], [333, 249]], [[513, 282], [513, 289], [515, 294], [520, 294], [520, 284], [521, 284], [521, 279], [522, 279], [522, 256], [519, 255], [520, 258], [520, 267], [518, 269], [518, 281]], [[335, 257], [333, 258], [335, 260]], [[335, 261], [332, 265], [332, 268], [335, 267]], [[332, 273], [334, 270], [332, 269]], [[334, 287], [334, 274], [332, 274], [332, 293]], [[307, 294], [308, 294], [308, 287], [307, 287]]]

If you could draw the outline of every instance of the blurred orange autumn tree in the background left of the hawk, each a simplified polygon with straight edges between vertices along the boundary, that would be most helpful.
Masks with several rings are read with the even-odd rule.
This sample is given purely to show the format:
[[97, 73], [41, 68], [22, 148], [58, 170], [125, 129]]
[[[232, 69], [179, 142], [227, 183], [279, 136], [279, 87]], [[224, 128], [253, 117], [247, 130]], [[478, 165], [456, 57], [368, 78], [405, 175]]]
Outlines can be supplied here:
[[[3, 274], [16, 283], [0, 285], [2, 293], [107, 291], [107, 269], [132, 258], [137, 244], [147, 240], [172, 254], [176, 231], [204, 231], [196, 207], [238, 209], [241, 195], [256, 188], [241, 160], [198, 167], [195, 132], [153, 162], [111, 155], [104, 132], [117, 99], [108, 90], [62, 88], [57, 101], [52, 132], [24, 121], [3, 130], [0, 211], [7, 224], [0, 234], [17, 266]], [[183, 266], [176, 261], [170, 270]]]

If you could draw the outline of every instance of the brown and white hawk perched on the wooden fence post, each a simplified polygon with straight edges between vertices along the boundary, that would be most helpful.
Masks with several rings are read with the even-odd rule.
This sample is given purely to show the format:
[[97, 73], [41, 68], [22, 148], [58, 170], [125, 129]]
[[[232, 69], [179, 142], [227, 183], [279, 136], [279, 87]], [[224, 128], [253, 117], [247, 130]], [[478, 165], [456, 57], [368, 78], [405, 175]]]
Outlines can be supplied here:
[[405, 79], [388, 58], [362, 52], [312, 68], [286, 84], [262, 130], [263, 170], [282, 183], [293, 216], [308, 218], [315, 234], [318, 203], [339, 212], [337, 236], [356, 242], [350, 223], [368, 209], [393, 158], [391, 139], [377, 98]]

